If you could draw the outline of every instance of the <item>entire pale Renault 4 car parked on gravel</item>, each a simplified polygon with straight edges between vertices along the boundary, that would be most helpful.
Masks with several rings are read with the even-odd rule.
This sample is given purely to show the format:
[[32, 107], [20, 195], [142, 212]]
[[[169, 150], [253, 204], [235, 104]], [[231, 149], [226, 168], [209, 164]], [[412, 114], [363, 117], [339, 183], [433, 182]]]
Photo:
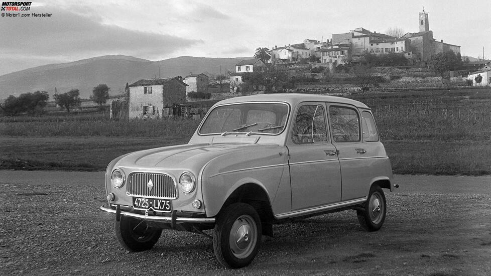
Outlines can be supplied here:
[[216, 103], [185, 145], [114, 159], [105, 189], [100, 209], [115, 215], [124, 248], [148, 250], [163, 230], [190, 231], [210, 237], [217, 260], [237, 268], [285, 220], [352, 209], [362, 228], [379, 230], [383, 189], [394, 184], [365, 104], [270, 94]]

